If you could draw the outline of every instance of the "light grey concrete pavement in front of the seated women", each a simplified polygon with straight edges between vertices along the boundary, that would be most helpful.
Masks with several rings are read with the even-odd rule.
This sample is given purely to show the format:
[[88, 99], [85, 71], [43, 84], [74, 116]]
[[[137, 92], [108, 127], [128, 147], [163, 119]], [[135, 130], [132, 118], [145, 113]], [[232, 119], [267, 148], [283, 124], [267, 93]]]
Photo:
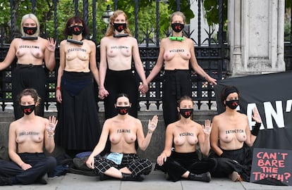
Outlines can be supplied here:
[[99, 177], [75, 175], [67, 173], [61, 177], [53, 177], [47, 179], [47, 185], [14, 185], [0, 186], [0, 189], [5, 190], [285, 190], [292, 189], [291, 186], [270, 186], [262, 184], [253, 184], [248, 182], [232, 182], [231, 179], [213, 178], [211, 182], [193, 182], [181, 180], [178, 182], [166, 181], [165, 175], [161, 171], [152, 171], [150, 175], [145, 176], [143, 182], [123, 182], [120, 180], [99, 181]]

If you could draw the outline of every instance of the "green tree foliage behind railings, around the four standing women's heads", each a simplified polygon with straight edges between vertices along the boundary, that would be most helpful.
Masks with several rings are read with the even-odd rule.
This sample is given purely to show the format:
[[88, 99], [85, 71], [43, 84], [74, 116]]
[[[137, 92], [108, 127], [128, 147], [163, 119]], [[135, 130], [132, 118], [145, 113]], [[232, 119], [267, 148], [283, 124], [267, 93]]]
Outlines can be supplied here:
[[[56, 2], [56, 18], [54, 16], [54, 2]], [[88, 27], [90, 31], [93, 30], [92, 23], [92, 1], [88, 1]], [[107, 25], [102, 21], [102, 13], [106, 11], [107, 5], [111, 5], [114, 9], [114, 1], [97, 0], [97, 39], [102, 38], [106, 30]], [[133, 0], [120, 0], [117, 1], [118, 9], [126, 12], [128, 15], [130, 30], [135, 33], [135, 1]], [[138, 1], [138, 28], [139, 38], [143, 38], [145, 33], [150, 33], [150, 36], [154, 35], [156, 31], [156, 1], [155, 0], [143, 0]], [[20, 34], [20, 21], [23, 15], [32, 13], [32, 3], [30, 0], [13, 0], [14, 7], [16, 8], [15, 18], [11, 20], [11, 6], [10, 1], [0, 0], [0, 32], [4, 42], [9, 43], [11, 41], [11, 22], [16, 23], [16, 37]], [[188, 0], [181, 0], [181, 11], [185, 14], [187, 23], [190, 18], [194, 17], [193, 11], [190, 10], [190, 4]], [[159, 2], [159, 32], [160, 36], [164, 37], [164, 32], [169, 29], [169, 15], [176, 11], [176, 0], [169, 0], [168, 3], [165, 1]], [[75, 15], [74, 0], [37, 0], [35, 5], [35, 15], [39, 19], [41, 36], [42, 37], [54, 37], [59, 39], [59, 42], [66, 38], [63, 35], [63, 29], [66, 25], [66, 21], [71, 16]], [[78, 0], [78, 15], [83, 17], [83, 0]], [[83, 17], [84, 18], [84, 17]], [[56, 31], [56, 32], [55, 32]]]

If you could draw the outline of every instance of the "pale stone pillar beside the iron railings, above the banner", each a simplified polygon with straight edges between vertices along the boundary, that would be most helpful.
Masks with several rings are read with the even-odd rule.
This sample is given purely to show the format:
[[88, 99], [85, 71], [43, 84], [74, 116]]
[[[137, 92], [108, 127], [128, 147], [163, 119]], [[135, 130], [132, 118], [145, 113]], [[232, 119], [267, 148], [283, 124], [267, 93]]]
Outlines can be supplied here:
[[285, 71], [284, 0], [229, 0], [231, 77]]

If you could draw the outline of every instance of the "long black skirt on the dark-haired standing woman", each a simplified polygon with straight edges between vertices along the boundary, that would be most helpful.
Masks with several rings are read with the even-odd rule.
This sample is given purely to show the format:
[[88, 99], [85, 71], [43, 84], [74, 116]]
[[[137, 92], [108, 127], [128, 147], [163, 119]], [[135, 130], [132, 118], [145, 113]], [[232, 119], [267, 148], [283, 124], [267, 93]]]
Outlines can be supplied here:
[[101, 127], [91, 72], [63, 72], [62, 103], [58, 103], [56, 145], [67, 150], [95, 148]]

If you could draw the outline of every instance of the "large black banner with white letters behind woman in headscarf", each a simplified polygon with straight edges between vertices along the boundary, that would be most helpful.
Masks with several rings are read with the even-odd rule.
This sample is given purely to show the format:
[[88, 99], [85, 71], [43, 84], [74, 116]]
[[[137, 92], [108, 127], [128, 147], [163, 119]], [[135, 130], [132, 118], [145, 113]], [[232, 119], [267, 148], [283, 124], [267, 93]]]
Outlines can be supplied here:
[[239, 91], [238, 111], [248, 115], [250, 129], [255, 125], [252, 110], [256, 106], [262, 126], [256, 148], [292, 150], [292, 72], [250, 75], [221, 80], [214, 86], [218, 113], [225, 108], [220, 101], [221, 89], [235, 86]]

